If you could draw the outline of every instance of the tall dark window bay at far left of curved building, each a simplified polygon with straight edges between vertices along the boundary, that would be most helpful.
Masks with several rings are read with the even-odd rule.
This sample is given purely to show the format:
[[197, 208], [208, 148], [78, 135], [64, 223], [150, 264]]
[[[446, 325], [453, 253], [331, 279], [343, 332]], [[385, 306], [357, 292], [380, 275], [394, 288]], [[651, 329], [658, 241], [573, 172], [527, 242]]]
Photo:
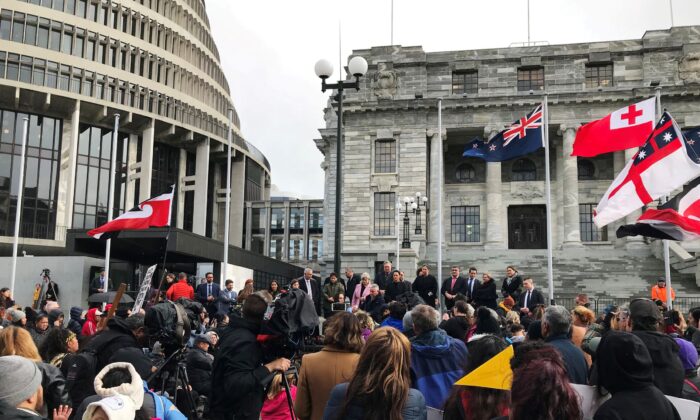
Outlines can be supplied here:
[[[14, 234], [23, 119], [0, 110], [0, 235]], [[61, 150], [61, 120], [29, 115], [20, 236], [54, 239]], [[17, 142], [15, 144], [15, 142]]]

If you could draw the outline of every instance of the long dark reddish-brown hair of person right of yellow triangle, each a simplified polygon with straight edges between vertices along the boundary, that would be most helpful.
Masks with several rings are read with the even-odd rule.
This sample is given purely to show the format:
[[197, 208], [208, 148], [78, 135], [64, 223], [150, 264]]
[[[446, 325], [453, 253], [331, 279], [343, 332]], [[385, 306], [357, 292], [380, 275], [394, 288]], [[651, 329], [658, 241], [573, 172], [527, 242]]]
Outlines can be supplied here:
[[579, 396], [557, 350], [547, 346], [532, 352], [533, 356], [538, 354], [542, 357], [513, 371], [511, 420], [582, 418]]

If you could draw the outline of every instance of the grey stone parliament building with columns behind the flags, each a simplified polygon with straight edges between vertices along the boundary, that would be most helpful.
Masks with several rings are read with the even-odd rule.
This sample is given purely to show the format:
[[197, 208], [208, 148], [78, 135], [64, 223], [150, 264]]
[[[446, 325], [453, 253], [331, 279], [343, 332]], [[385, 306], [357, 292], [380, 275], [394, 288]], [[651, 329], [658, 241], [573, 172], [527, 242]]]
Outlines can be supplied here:
[[[400, 268], [413, 279], [417, 264], [427, 263], [436, 274], [434, 209], [443, 183], [443, 274], [453, 264], [474, 265], [500, 279], [513, 264], [546, 288], [544, 149], [502, 163], [462, 157], [469, 141], [490, 138], [525, 116], [546, 92], [555, 294], [646, 296], [663, 275], [659, 241], [615, 237], [617, 227], [640, 212], [603, 229], [591, 220], [635, 150], [594, 158], [570, 154], [582, 124], [652, 97], [657, 88], [662, 107], [682, 129], [700, 125], [700, 26], [648, 31], [635, 40], [449, 52], [384, 46], [353, 55], [364, 57], [369, 71], [360, 90], [347, 90], [344, 99], [343, 266], [374, 273], [383, 260], [394, 260], [397, 235], [404, 239], [397, 201], [420, 192], [428, 197], [423, 229], [415, 234], [416, 216], [410, 214], [411, 248], [401, 250]], [[325, 157], [323, 274], [332, 270], [334, 249], [332, 97], [326, 127], [315, 140]], [[697, 292], [693, 247], [673, 243], [672, 257], [674, 288], [680, 295]]]

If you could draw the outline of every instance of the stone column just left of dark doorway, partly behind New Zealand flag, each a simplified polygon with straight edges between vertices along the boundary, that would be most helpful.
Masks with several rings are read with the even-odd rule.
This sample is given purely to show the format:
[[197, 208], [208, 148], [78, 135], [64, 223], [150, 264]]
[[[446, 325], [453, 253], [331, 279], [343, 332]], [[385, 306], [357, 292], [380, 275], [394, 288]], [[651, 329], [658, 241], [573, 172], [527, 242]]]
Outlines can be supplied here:
[[[491, 139], [498, 134], [497, 127], [485, 127], [484, 135]], [[486, 249], [505, 249], [501, 215], [503, 208], [501, 162], [486, 162]]]

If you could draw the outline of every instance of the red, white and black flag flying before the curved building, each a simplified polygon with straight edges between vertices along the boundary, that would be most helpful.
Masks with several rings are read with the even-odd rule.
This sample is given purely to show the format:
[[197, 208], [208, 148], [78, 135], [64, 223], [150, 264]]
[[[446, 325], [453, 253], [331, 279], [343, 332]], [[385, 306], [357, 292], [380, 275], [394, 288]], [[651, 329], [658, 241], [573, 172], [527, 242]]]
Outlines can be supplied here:
[[175, 186], [167, 194], [149, 198], [138, 207], [134, 207], [111, 222], [88, 231], [88, 235], [95, 239], [108, 239], [116, 236], [122, 230], [140, 230], [170, 225], [174, 190]]

